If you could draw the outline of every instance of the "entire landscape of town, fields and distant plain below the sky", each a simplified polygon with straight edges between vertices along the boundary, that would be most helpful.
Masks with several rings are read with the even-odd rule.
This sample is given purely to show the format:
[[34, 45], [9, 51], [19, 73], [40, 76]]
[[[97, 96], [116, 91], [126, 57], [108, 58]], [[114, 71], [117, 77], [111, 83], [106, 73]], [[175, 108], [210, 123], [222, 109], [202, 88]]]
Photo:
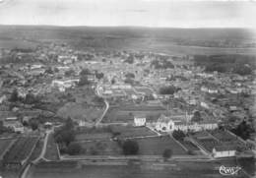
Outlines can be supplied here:
[[3, 15], [0, 178], [256, 176], [254, 30]]

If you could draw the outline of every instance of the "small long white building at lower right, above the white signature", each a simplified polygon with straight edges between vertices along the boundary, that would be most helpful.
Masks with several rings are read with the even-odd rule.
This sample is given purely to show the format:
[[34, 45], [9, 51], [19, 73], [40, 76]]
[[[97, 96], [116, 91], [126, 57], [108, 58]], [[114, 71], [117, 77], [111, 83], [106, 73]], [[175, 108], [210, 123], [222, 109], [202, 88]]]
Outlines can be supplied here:
[[218, 146], [213, 148], [213, 156], [215, 158], [219, 157], [232, 157], [235, 156], [235, 148], [234, 147], [228, 147], [228, 146]]

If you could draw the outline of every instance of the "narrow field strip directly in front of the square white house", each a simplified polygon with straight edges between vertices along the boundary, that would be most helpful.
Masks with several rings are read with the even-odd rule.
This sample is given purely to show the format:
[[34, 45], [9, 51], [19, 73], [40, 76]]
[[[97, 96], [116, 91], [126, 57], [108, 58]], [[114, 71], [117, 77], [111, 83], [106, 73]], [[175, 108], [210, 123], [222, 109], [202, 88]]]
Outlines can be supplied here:
[[119, 133], [118, 138], [133, 138], [156, 136], [157, 134], [146, 127], [111, 126], [113, 133]]

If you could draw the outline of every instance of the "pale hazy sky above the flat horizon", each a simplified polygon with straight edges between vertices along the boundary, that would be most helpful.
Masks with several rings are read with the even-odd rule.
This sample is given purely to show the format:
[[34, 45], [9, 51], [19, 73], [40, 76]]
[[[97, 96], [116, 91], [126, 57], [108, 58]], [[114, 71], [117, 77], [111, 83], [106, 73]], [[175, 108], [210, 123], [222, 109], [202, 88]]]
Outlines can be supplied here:
[[256, 28], [256, 1], [0, 0], [1, 25]]

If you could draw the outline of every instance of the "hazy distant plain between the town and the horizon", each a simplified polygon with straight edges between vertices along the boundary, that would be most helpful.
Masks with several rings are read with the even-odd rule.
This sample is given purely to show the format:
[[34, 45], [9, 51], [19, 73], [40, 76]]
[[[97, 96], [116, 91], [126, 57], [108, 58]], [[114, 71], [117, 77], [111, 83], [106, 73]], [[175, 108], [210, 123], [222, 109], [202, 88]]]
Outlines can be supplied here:
[[[65, 42], [75, 49], [143, 50], [169, 54], [254, 54], [255, 48], [227, 48], [196, 46], [194, 41], [232, 39], [252, 41], [250, 30], [239, 29], [148, 29], [148, 28], [59, 28], [10, 27], [0, 28], [0, 47], [31, 45], [34, 42]], [[21, 36], [30, 39], [22, 40]], [[13, 42], [14, 39], [15, 40]], [[192, 41], [190, 39], [193, 39]], [[9, 42], [11, 41], [11, 42]], [[17, 44], [16, 41], [19, 41]], [[177, 41], [183, 41], [180, 45]], [[20, 44], [21, 43], [21, 44]], [[24, 43], [24, 44], [23, 44]], [[211, 43], [212, 44], [212, 43]], [[35, 46], [35, 45], [34, 45]]]

